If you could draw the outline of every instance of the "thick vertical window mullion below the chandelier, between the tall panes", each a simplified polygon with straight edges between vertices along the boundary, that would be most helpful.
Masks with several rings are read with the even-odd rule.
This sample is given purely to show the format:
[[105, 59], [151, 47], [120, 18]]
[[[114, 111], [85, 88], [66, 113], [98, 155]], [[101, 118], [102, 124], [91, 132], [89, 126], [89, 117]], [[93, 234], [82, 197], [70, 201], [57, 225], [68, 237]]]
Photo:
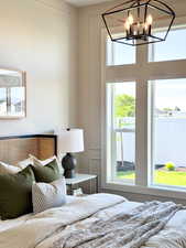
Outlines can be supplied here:
[[149, 46], [136, 47], [136, 65], [140, 69], [140, 77], [136, 79], [136, 123], [135, 123], [135, 161], [136, 177], [135, 184], [141, 186], [149, 185], [149, 115], [147, 115], [147, 80], [145, 79], [145, 66], [147, 64]]

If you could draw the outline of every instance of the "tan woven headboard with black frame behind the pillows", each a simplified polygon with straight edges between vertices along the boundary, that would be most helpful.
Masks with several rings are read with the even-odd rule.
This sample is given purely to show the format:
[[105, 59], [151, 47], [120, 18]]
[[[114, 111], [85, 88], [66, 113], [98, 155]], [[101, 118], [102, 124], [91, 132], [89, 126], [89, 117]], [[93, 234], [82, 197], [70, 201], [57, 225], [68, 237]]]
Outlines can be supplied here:
[[0, 137], [0, 161], [14, 164], [34, 154], [41, 160], [57, 154], [57, 137], [54, 134], [29, 134]]

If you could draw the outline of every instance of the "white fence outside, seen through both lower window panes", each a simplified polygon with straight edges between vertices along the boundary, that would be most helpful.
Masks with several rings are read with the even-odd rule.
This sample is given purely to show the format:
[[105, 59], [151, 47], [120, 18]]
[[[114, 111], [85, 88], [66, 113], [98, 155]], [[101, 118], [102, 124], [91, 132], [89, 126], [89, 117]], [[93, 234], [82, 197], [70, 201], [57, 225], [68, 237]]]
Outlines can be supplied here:
[[[157, 118], [154, 123], [154, 164], [174, 162], [176, 166], [186, 166], [186, 119], [174, 117]], [[117, 161], [123, 159], [123, 161], [134, 162], [134, 130], [122, 132], [122, 145], [120, 138], [121, 133], [118, 132]]]

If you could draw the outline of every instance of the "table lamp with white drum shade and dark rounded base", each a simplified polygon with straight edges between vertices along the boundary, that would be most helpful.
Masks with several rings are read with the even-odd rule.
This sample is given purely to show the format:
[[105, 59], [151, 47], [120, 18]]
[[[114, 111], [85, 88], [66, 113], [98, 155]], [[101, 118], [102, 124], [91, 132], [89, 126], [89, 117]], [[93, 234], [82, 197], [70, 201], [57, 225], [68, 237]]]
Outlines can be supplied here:
[[61, 153], [66, 153], [62, 160], [64, 176], [66, 179], [75, 177], [76, 158], [72, 153], [84, 151], [84, 130], [63, 129], [58, 133], [58, 149]]

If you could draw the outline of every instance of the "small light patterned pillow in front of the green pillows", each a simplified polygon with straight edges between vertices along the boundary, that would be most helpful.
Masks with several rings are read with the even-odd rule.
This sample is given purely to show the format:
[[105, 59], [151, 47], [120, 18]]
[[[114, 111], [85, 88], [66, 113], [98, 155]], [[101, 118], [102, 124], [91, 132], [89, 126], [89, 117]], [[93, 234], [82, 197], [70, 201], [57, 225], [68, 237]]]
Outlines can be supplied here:
[[47, 183], [35, 183], [32, 185], [32, 203], [34, 214], [52, 207], [59, 207], [66, 203], [66, 183], [61, 179]]

